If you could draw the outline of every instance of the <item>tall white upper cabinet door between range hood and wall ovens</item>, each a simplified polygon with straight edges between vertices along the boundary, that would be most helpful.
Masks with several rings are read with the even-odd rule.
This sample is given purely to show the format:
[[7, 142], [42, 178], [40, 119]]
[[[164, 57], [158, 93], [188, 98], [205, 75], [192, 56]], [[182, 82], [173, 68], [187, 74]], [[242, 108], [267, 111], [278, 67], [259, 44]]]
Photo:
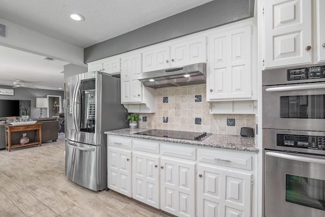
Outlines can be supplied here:
[[209, 100], [252, 97], [251, 26], [209, 37]]

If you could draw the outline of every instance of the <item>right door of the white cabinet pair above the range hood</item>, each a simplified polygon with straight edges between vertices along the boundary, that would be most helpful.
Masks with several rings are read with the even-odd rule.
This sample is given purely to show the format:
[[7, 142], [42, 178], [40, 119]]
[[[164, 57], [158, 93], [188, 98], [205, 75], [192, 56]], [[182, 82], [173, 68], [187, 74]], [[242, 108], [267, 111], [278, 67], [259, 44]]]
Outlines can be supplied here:
[[185, 66], [207, 61], [206, 37], [185, 41], [171, 46], [171, 67]]

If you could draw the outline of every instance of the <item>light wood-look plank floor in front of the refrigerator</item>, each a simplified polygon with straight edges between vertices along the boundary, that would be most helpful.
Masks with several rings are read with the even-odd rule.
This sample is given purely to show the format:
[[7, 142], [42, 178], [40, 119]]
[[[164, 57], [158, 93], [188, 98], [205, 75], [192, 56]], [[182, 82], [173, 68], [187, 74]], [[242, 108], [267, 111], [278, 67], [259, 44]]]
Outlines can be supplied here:
[[64, 134], [42, 146], [0, 150], [0, 216], [174, 216], [64, 176]]

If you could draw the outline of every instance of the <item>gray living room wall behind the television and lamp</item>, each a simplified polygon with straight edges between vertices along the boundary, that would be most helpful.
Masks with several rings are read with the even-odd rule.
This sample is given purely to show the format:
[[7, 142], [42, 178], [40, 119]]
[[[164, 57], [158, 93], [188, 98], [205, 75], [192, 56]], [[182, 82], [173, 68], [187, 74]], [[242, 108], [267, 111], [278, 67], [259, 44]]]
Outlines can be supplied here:
[[[61, 96], [63, 100], [62, 90], [49, 90], [49, 89], [33, 89], [26, 87], [12, 88], [12, 86], [0, 85], [0, 88], [14, 89], [14, 96], [0, 95], [1, 100], [30, 100], [30, 119], [39, 118], [41, 110], [36, 108], [36, 98], [47, 98], [47, 95]], [[60, 102], [62, 105], [62, 102]], [[1, 105], [0, 105], [1, 106]], [[47, 109], [43, 109], [43, 116], [47, 117]]]

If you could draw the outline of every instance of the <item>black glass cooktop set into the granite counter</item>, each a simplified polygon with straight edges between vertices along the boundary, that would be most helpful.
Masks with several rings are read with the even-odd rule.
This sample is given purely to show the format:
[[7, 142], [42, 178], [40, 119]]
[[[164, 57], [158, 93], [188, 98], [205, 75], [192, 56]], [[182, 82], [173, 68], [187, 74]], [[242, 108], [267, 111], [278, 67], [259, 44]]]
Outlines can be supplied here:
[[187, 139], [187, 140], [195, 140], [195, 141], [202, 141], [203, 139], [212, 135], [211, 133], [207, 133], [207, 132], [199, 133], [199, 132], [157, 130], [157, 129], [139, 132], [136, 134], [146, 135], [146, 136], [166, 137], [172, 139]]

